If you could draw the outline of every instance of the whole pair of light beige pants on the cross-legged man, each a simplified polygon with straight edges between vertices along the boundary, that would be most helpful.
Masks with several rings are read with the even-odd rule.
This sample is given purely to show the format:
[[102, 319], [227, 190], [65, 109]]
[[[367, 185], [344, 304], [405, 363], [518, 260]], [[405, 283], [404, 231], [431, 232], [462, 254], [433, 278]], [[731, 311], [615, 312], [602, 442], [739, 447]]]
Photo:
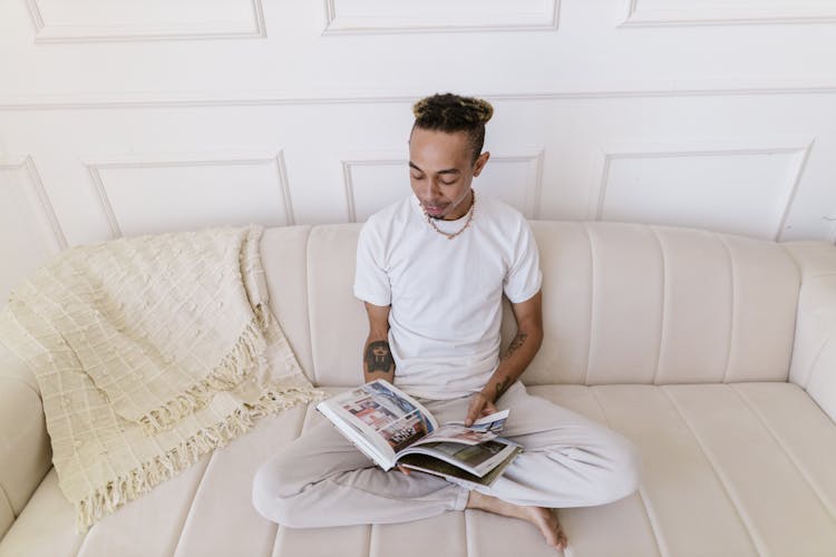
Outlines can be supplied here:
[[[421, 400], [439, 423], [464, 420], [469, 399]], [[525, 450], [489, 488], [517, 505], [603, 505], [639, 486], [639, 456], [621, 434], [531, 395], [515, 383], [499, 399], [511, 409], [503, 436]], [[444, 479], [377, 468], [330, 422], [312, 428], [261, 466], [253, 505], [290, 527], [389, 524], [465, 508], [468, 490]]]

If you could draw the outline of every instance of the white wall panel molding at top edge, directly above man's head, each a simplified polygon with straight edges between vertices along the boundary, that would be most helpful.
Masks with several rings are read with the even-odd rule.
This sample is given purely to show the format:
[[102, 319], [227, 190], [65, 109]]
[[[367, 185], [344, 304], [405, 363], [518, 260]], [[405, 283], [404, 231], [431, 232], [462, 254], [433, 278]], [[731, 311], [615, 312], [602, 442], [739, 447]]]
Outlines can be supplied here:
[[[449, 3], [444, 10], [434, 9], [432, 6], [424, 6], [424, 3], [407, 6], [396, 2], [378, 2], [373, 9], [370, 6], [352, 7], [351, 3], [351, 0], [324, 0], [323, 36], [555, 31], [560, 18], [560, 0], [504, 2], [503, 10], [493, 13], [486, 9], [486, 0], [460, 0], [458, 13], [450, 11]], [[468, 9], [468, 4], [473, 6]]]

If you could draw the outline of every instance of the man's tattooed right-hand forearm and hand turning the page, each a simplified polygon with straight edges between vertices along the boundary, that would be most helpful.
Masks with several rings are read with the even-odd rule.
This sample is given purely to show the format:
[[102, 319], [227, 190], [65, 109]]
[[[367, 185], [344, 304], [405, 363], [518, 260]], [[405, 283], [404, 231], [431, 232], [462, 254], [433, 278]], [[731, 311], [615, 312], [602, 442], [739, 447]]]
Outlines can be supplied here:
[[494, 405], [499, 397], [514, 384], [528, 367], [543, 343], [543, 304], [542, 294], [535, 295], [518, 304], [511, 304], [517, 322], [517, 334], [503, 354], [499, 367], [490, 375], [485, 387], [470, 400], [465, 424], [496, 411]]

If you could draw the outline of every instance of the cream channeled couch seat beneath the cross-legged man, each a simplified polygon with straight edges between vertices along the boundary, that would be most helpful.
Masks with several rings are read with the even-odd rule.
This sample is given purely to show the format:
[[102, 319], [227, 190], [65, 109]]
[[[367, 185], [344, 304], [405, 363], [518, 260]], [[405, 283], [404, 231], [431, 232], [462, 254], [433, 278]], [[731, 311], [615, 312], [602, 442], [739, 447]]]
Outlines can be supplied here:
[[[613, 427], [642, 453], [639, 492], [560, 511], [571, 555], [813, 557], [836, 547], [836, 426], [797, 385], [531, 390]], [[553, 555], [529, 525], [480, 511], [311, 530], [268, 522], [250, 505], [255, 469], [320, 419], [302, 408], [266, 419], [86, 535], [72, 534], [74, 514], [51, 471], [0, 556]]]

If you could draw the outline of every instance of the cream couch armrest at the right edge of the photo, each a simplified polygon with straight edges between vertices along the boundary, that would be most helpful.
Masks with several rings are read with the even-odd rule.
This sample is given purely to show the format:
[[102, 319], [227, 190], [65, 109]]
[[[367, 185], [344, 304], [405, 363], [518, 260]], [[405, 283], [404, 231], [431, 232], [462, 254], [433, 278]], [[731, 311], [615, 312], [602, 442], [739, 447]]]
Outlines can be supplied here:
[[782, 244], [801, 271], [789, 380], [836, 421], [836, 246]]

